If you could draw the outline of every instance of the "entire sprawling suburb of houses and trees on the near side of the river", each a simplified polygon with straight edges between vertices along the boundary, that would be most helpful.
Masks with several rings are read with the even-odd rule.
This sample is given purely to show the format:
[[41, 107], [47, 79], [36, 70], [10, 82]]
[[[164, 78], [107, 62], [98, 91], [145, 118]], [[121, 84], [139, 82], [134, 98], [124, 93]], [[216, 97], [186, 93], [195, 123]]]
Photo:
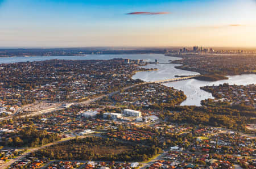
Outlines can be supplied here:
[[[255, 130], [238, 126], [253, 125], [254, 85], [207, 86], [204, 90], [216, 100], [203, 100], [202, 107], [180, 106], [186, 99], [183, 91], [131, 78], [136, 71], [148, 70], [143, 65], [122, 59], [3, 65], [0, 165], [255, 168]], [[44, 76], [41, 69], [46, 69]], [[19, 78], [22, 71], [23, 81], [7, 82], [6, 77]], [[213, 116], [209, 112], [217, 105], [224, 111]], [[230, 116], [232, 106], [250, 108], [241, 113], [232, 109], [237, 116]], [[237, 128], [224, 125], [219, 115], [233, 118], [230, 122], [237, 121]], [[208, 123], [200, 122], [206, 117]]]

